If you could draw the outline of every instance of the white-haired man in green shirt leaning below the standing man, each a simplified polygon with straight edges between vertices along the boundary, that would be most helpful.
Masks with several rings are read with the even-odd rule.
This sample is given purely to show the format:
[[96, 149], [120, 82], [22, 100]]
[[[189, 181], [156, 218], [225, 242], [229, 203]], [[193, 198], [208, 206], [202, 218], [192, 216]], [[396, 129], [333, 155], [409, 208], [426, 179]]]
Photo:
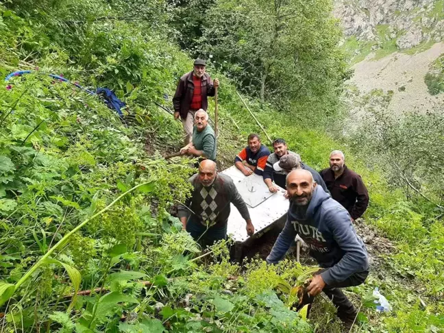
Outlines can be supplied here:
[[216, 136], [210, 125], [208, 125], [208, 113], [200, 109], [195, 113], [195, 126], [193, 128], [193, 140], [180, 149], [182, 155], [192, 155], [199, 158], [216, 160]]

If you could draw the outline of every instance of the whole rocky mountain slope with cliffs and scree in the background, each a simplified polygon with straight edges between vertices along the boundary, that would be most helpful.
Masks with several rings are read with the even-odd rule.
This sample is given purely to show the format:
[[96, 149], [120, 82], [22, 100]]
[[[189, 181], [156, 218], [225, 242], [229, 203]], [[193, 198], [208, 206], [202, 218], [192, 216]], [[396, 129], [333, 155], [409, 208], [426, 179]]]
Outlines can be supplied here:
[[396, 115], [442, 109], [444, 0], [338, 0], [334, 14], [354, 69], [351, 123], [358, 126], [369, 108]]

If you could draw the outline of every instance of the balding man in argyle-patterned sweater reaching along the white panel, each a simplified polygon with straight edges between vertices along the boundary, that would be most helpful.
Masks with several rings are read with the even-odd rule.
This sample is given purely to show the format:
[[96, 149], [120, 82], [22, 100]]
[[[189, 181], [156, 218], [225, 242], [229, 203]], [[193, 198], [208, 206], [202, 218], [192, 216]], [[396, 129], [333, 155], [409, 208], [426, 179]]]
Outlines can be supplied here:
[[178, 216], [184, 226], [202, 247], [212, 245], [227, 236], [230, 203], [247, 222], [247, 234], [254, 234], [247, 205], [240, 197], [233, 180], [217, 173], [216, 163], [204, 160], [199, 164], [199, 173], [190, 177], [193, 193], [184, 205], [180, 205]]

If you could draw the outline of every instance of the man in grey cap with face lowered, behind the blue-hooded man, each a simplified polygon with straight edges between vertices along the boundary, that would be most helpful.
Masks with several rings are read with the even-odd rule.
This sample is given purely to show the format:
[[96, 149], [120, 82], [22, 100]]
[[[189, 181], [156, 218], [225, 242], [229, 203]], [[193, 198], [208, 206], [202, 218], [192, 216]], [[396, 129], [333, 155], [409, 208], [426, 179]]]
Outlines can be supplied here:
[[[273, 164], [273, 169], [277, 175], [275, 177], [275, 183], [282, 188], [285, 188], [285, 178], [288, 173], [291, 173], [293, 170], [302, 169], [310, 171], [310, 173], [313, 175], [314, 182], [321, 186], [323, 190], [325, 190], [325, 193], [330, 193], [321, 175], [316, 170], [308, 167], [307, 164], [302, 163], [301, 156], [299, 156], [297, 153], [282, 156], [280, 160]], [[281, 175], [283, 177], [280, 177]]]

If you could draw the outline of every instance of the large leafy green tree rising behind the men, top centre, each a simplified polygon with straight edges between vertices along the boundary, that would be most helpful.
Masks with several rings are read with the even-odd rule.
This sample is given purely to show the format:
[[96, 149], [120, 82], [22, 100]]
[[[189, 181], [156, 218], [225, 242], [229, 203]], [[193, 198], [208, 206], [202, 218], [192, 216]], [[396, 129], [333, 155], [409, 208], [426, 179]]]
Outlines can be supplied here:
[[275, 101], [335, 90], [347, 73], [329, 0], [218, 0], [201, 49], [247, 93]]

